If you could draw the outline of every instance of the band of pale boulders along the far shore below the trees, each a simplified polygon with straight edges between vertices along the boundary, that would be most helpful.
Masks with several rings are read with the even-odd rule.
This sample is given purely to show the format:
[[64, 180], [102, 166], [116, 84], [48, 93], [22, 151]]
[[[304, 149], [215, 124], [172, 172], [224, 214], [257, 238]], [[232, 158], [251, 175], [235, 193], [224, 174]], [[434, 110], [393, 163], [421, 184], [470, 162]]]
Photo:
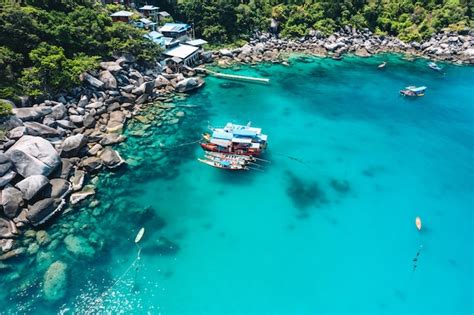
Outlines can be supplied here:
[[474, 31], [465, 34], [445, 32], [418, 43], [404, 43], [392, 36], [379, 36], [369, 30], [344, 29], [323, 36], [312, 30], [300, 39], [280, 39], [269, 33], [257, 33], [250, 42], [235, 49], [221, 49], [213, 57], [225, 66], [232, 62], [281, 62], [289, 53], [300, 52], [317, 56], [341, 56], [345, 53], [368, 57], [381, 52], [406, 53], [433, 60], [474, 64]]

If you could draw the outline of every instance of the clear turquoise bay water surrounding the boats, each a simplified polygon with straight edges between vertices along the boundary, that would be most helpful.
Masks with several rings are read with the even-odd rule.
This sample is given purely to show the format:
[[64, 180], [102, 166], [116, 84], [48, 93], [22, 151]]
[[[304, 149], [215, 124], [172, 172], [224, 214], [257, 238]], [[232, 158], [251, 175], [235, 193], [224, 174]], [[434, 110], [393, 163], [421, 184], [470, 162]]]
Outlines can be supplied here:
[[[295, 58], [225, 70], [270, 85], [208, 77], [182, 102], [198, 107], [173, 109], [186, 112], [179, 129], [131, 124], [118, 146], [129, 166], [101, 176], [98, 205], [48, 230], [61, 239], [79, 220], [88, 226], [68, 231], [96, 251], [52, 251], [68, 263], [65, 297], [42, 302], [44, 267], [20, 261], [30, 284], [14, 298], [25, 277], [2, 286], [7, 312], [472, 312], [474, 68], [443, 66]], [[411, 84], [426, 96], [400, 97]], [[269, 134], [264, 172], [219, 171], [196, 161], [197, 145], [175, 147], [227, 121]], [[141, 259], [124, 275], [142, 226]]]

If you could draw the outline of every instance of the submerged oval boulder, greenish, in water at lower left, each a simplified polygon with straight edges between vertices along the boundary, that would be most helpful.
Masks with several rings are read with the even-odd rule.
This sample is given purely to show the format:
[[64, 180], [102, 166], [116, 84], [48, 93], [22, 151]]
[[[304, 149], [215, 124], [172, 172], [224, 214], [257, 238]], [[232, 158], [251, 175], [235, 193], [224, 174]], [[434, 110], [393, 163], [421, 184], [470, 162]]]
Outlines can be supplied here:
[[67, 265], [58, 260], [52, 263], [43, 279], [43, 294], [47, 301], [57, 301], [66, 295]]

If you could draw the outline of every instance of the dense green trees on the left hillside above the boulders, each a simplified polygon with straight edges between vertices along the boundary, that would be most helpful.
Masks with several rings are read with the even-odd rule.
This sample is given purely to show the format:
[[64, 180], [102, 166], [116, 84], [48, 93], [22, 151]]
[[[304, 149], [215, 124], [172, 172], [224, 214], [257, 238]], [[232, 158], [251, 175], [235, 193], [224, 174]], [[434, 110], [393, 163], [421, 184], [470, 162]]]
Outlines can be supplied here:
[[96, 1], [23, 3], [0, 4], [0, 98], [67, 90], [79, 83], [79, 74], [114, 55], [132, 53], [141, 62], [159, 56], [144, 31], [112, 23], [111, 11]]

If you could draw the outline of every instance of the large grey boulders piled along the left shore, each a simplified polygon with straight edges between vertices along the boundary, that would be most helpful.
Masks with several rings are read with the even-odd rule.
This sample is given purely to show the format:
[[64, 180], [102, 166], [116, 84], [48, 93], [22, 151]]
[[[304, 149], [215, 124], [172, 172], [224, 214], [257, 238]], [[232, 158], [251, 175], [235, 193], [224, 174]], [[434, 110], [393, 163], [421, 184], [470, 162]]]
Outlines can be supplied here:
[[111, 146], [125, 140], [127, 119], [142, 104], [202, 86], [189, 69], [140, 68], [130, 56], [84, 73], [84, 85], [55, 100], [13, 108], [0, 139], [0, 260], [21, 254], [15, 238], [94, 195], [85, 179], [124, 164]]

